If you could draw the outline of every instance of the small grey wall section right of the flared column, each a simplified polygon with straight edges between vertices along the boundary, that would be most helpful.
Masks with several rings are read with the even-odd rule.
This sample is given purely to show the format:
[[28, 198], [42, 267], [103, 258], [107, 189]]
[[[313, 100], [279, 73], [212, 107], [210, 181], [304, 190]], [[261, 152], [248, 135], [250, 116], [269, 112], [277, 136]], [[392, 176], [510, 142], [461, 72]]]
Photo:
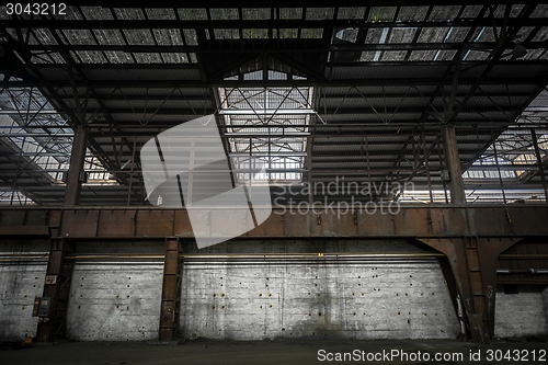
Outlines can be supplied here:
[[521, 286], [518, 294], [496, 293], [495, 338], [548, 334], [547, 289]]

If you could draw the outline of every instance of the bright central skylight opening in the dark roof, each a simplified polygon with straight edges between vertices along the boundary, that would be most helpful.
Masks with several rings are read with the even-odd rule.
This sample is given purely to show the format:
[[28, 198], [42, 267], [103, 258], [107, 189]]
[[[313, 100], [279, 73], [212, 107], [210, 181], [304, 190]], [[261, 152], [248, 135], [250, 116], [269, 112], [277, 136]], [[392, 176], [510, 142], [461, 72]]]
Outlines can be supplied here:
[[[288, 75], [267, 72], [269, 80], [287, 80]], [[263, 71], [243, 75], [244, 80], [262, 80]], [[259, 159], [265, 173], [254, 181], [270, 185], [295, 184], [302, 180], [310, 135], [311, 87], [219, 88], [219, 114], [228, 137], [229, 157], [236, 183], [250, 179]]]

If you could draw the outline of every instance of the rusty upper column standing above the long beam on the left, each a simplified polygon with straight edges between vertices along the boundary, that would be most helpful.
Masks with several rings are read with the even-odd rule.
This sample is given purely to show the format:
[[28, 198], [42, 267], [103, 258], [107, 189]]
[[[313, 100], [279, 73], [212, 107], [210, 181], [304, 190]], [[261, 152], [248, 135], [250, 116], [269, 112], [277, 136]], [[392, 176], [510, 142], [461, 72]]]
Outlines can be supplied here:
[[65, 205], [78, 205], [80, 190], [84, 180], [83, 161], [85, 159], [85, 148], [88, 147], [88, 129], [79, 125], [75, 130], [75, 140], [70, 152], [70, 166], [67, 175], [67, 186], [65, 189]]

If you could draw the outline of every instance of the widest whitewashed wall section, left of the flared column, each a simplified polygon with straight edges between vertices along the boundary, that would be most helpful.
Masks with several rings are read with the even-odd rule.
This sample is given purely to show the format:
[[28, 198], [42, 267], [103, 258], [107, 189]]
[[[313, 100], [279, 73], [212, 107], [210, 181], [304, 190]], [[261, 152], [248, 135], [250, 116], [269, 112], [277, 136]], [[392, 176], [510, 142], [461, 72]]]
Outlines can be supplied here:
[[[297, 250], [299, 244], [305, 243], [295, 242]], [[323, 244], [318, 252], [378, 250], [354, 244], [359, 243]], [[273, 246], [264, 251], [290, 250], [288, 242]], [[212, 249], [224, 250], [229, 248]], [[390, 247], [398, 250], [418, 251], [409, 243]], [[181, 335], [187, 339], [452, 339], [458, 333], [436, 260], [187, 262], [183, 270]]]

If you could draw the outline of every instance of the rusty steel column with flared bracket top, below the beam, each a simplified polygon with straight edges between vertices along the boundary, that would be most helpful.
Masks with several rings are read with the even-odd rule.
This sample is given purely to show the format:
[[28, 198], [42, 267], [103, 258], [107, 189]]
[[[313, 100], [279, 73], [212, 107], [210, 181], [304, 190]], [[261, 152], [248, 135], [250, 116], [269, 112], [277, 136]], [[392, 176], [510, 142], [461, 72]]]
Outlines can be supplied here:
[[[463, 237], [420, 240], [447, 255], [463, 300], [467, 327], [473, 340], [484, 342], [484, 334], [493, 338], [496, 261], [499, 253], [520, 241], [520, 238]], [[480, 333], [476, 327], [480, 327]]]

